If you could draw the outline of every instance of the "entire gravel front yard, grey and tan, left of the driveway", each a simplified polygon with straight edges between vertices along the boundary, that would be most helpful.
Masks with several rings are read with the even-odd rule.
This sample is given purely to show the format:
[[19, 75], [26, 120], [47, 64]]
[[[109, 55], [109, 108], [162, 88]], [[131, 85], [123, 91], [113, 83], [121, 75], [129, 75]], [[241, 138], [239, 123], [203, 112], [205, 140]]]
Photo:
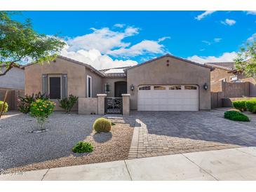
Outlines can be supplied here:
[[[116, 123], [111, 132], [97, 134], [92, 125], [99, 117], [55, 112], [46, 123], [47, 132], [29, 133], [36, 129], [34, 118], [4, 116], [0, 119], [0, 170], [40, 170], [128, 158], [133, 128]], [[94, 151], [73, 153], [79, 141], [90, 142]]]

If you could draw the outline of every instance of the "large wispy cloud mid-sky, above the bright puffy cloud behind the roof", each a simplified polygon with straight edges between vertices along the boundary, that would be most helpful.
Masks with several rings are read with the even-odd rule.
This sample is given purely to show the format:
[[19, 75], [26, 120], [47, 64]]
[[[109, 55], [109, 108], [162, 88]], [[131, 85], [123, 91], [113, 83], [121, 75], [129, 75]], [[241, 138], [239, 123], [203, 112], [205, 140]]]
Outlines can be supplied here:
[[100, 53], [106, 53], [113, 48], [124, 48], [130, 43], [124, 43], [122, 40], [128, 36], [138, 33], [138, 28], [126, 27], [124, 32], [116, 32], [108, 27], [102, 29], [91, 28], [93, 33], [83, 36], [76, 36], [74, 39], [68, 39], [69, 51], [97, 49]]

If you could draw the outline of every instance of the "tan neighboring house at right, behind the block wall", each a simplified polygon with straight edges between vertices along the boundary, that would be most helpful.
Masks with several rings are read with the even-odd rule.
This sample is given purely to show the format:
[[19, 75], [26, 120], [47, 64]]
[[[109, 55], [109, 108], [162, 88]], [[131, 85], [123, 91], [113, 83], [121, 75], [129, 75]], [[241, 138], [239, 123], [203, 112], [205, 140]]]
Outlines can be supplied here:
[[[229, 83], [245, 83], [248, 82], [248, 96], [256, 96], [256, 81], [252, 77], [246, 77], [236, 70], [234, 62], [208, 62], [208, 67], [213, 67], [210, 72], [210, 84], [212, 91], [220, 90], [220, 81]], [[234, 90], [235, 91], [235, 90]]]

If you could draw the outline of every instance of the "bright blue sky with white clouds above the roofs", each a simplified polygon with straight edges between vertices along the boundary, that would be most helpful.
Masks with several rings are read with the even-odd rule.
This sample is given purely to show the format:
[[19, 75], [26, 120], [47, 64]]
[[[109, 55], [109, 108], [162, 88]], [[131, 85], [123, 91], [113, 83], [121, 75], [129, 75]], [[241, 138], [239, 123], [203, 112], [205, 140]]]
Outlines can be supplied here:
[[256, 37], [256, 11], [22, 11], [43, 34], [59, 34], [62, 55], [97, 69], [170, 53], [196, 62], [227, 62]]

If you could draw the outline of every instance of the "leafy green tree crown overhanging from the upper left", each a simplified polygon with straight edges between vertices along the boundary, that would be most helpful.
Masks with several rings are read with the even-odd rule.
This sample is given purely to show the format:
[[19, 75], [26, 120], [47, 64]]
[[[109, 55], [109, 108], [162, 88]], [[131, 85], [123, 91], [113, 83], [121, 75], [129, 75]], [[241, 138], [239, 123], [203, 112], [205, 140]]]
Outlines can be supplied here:
[[11, 19], [11, 13], [0, 11], [0, 76], [4, 76], [15, 64], [49, 62], [65, 46], [58, 36], [46, 36], [32, 29], [30, 20], [21, 23]]

